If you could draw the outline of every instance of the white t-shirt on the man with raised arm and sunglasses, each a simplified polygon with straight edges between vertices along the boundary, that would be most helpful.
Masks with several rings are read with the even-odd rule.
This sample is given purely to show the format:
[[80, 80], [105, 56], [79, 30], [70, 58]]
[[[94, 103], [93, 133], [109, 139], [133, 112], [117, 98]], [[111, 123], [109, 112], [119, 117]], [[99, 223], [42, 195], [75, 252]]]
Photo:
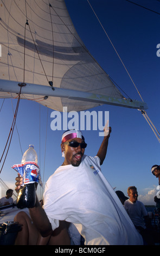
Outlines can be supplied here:
[[117, 194], [100, 170], [99, 157], [84, 155], [78, 167], [60, 166], [46, 183], [43, 208], [53, 230], [74, 223], [85, 245], [142, 245]]

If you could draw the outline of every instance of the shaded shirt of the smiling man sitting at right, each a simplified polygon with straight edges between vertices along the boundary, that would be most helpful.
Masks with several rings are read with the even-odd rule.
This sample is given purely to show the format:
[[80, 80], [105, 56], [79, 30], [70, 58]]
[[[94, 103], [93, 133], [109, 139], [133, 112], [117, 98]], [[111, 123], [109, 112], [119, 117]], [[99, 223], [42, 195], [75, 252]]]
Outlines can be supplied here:
[[124, 203], [124, 207], [127, 211], [127, 214], [129, 214], [132, 222], [136, 226], [143, 227], [144, 229], [145, 224], [144, 224], [144, 216], [147, 216], [148, 213], [145, 209], [145, 206], [142, 202], [136, 201], [135, 203], [132, 203], [130, 199], [127, 199]]

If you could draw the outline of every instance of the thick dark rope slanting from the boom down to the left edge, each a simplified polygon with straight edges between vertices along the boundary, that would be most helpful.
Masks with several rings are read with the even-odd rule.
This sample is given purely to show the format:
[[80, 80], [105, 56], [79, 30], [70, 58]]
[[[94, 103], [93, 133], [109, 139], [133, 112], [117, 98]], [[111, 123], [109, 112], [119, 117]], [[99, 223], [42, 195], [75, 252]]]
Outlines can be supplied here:
[[[14, 114], [14, 119], [12, 121], [12, 126], [11, 126], [11, 129], [10, 129], [10, 132], [9, 132], [9, 136], [8, 136], [8, 139], [7, 139], [7, 143], [5, 144], [5, 148], [4, 148], [4, 151], [3, 151], [3, 154], [2, 154], [2, 157], [4, 155], [4, 152], [5, 152], [5, 149], [7, 148], [7, 144], [9, 142], [9, 145], [8, 145], [8, 150], [7, 150], [7, 153], [5, 155], [5, 158], [4, 158], [4, 161], [3, 161], [3, 164], [2, 164], [2, 168], [0, 170], [0, 173], [2, 172], [2, 169], [3, 169], [3, 166], [4, 166], [4, 163], [5, 163], [5, 160], [7, 158], [7, 155], [8, 155], [8, 151], [9, 151], [9, 147], [10, 147], [10, 143], [11, 143], [11, 139], [12, 139], [12, 135], [13, 135], [13, 132], [14, 132], [14, 127], [15, 127], [15, 123], [16, 123], [16, 118], [17, 118], [17, 112], [18, 112], [18, 107], [19, 107], [19, 104], [20, 104], [20, 95], [21, 95], [21, 89], [22, 89], [22, 86], [20, 88], [20, 93], [18, 94], [18, 101], [17, 101], [17, 106], [16, 106], [16, 110], [15, 110], [15, 114]], [[11, 137], [10, 137], [11, 136]], [[10, 137], [10, 141], [9, 141], [9, 137]], [[2, 157], [1, 157], [1, 161], [2, 161]], [[1, 163], [0, 161], [0, 163]]]

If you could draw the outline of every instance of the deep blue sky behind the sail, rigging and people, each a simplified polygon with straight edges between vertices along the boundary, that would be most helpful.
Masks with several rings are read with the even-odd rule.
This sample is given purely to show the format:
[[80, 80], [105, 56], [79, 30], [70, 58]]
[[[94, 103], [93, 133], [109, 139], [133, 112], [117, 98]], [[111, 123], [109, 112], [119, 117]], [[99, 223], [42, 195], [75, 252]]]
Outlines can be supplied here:
[[[160, 44], [160, 16], [125, 0], [89, 0], [89, 2], [110, 36], [140, 95], [147, 103], [146, 112], [160, 130], [160, 57], [156, 54], [158, 51], [156, 46]], [[157, 0], [132, 2], [160, 13], [160, 2]], [[89, 52], [131, 99], [141, 100], [87, 0], [66, 0], [66, 5], [76, 31]], [[0, 106], [2, 102], [3, 99], [0, 99]], [[0, 112], [0, 152], [3, 152], [12, 123], [12, 105], [15, 109], [16, 100], [5, 100]], [[126, 195], [127, 187], [135, 185], [139, 193], [138, 199], [144, 204], [153, 204], [153, 197], [158, 192], [156, 190], [158, 180], [151, 174], [150, 169], [153, 164], [159, 164], [159, 142], [150, 126], [136, 109], [104, 105], [90, 109], [93, 110], [110, 113], [112, 133], [107, 156], [101, 168], [106, 179], [112, 187], [116, 187], [116, 190], [121, 190]], [[53, 120], [50, 118], [51, 113], [52, 109], [47, 109], [38, 103], [20, 101], [16, 121], [18, 133], [15, 127], [7, 160], [0, 176], [9, 187], [15, 188], [16, 172], [11, 166], [21, 162], [21, 147], [24, 152], [29, 144], [35, 145], [42, 179], [44, 173], [44, 183], [62, 164], [60, 142], [63, 131], [53, 131], [50, 128]], [[86, 154], [96, 155], [102, 141], [99, 131], [82, 132], [87, 142]], [[4, 196], [3, 188], [1, 192]]]

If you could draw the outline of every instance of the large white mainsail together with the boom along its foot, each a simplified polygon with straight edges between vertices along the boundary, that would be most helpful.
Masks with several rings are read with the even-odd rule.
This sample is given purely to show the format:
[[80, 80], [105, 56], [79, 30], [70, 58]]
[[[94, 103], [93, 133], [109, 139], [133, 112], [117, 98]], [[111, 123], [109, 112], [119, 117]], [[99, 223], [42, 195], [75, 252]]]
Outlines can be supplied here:
[[[63, 0], [1, 0], [0, 97], [35, 100], [62, 111], [107, 103], [146, 109], [125, 99], [80, 39]], [[19, 84], [19, 86], [18, 86]]]

